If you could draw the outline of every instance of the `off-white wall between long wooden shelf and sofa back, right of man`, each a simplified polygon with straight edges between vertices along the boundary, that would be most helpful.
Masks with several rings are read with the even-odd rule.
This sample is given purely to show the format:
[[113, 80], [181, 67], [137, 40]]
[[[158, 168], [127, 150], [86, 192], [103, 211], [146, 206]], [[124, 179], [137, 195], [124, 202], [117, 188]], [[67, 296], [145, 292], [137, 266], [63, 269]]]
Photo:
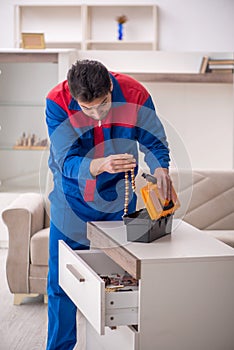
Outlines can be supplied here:
[[168, 138], [175, 165], [183, 151], [191, 167], [231, 169], [233, 145], [232, 84], [145, 84], [160, 117], [169, 123]]

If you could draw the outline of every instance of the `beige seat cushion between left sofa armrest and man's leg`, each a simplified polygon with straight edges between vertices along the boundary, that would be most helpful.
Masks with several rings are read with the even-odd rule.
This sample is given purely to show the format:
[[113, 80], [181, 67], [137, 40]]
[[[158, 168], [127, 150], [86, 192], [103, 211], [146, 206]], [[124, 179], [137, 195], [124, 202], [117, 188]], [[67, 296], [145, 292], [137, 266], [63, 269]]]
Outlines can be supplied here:
[[31, 263], [33, 265], [48, 265], [49, 259], [49, 228], [42, 229], [32, 236], [30, 243]]

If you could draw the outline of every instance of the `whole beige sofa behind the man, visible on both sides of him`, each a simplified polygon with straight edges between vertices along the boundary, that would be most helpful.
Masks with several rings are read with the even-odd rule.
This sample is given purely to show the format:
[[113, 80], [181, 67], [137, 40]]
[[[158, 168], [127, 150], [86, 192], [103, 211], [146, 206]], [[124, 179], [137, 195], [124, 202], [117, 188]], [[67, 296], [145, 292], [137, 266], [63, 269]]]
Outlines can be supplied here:
[[[171, 176], [181, 202], [176, 217], [234, 247], [234, 171], [172, 170]], [[136, 185], [138, 191], [145, 185], [142, 176]], [[7, 280], [15, 304], [25, 295], [46, 295], [49, 209], [45, 207], [42, 195], [26, 193], [2, 213], [9, 233]]]

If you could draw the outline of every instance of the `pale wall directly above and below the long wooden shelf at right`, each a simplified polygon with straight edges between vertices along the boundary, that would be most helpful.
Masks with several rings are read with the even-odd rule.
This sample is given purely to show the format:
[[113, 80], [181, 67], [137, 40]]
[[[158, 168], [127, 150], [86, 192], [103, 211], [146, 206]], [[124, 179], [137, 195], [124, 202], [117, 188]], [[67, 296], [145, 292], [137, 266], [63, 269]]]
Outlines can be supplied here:
[[[103, 62], [121, 72], [197, 73], [203, 55], [230, 57], [217, 52], [131, 52], [79, 51], [80, 59]], [[122, 58], [122, 59], [121, 59]], [[230, 169], [234, 165], [234, 85], [207, 83], [144, 83], [150, 91], [168, 132], [175, 165], [182, 164], [181, 152], [192, 168]], [[186, 154], [187, 153], [187, 156]]]

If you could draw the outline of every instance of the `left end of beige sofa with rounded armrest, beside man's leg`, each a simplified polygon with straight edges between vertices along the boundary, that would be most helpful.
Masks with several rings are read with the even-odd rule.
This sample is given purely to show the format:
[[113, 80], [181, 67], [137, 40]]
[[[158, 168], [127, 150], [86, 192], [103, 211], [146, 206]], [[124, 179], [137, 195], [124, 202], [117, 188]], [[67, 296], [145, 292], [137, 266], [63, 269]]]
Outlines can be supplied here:
[[21, 194], [3, 211], [2, 218], [9, 235], [6, 274], [14, 304], [38, 294], [44, 295], [46, 302], [49, 219], [43, 196]]

